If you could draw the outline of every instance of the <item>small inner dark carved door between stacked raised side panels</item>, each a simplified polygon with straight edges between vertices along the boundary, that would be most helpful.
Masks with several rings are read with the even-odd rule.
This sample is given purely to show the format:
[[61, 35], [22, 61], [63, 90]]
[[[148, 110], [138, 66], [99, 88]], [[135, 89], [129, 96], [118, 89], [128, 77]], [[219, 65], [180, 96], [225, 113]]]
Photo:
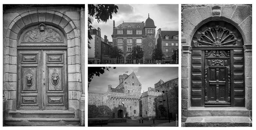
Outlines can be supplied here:
[[230, 106], [230, 51], [205, 51], [205, 106]]

